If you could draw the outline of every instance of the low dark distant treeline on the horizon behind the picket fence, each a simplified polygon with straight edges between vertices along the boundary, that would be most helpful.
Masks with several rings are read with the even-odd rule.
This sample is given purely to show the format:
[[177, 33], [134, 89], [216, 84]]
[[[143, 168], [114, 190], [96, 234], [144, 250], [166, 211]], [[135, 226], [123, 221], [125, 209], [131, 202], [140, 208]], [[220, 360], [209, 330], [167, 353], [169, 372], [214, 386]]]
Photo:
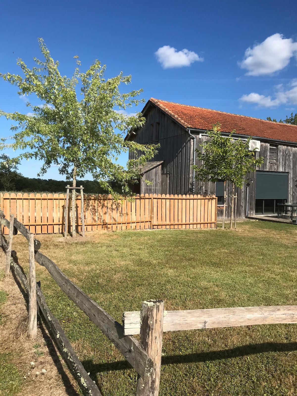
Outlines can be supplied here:
[[[13, 190], [17, 192], [66, 192], [66, 186], [72, 186], [72, 182], [53, 179], [35, 179], [30, 177], [23, 177], [19, 175], [14, 181]], [[93, 180], [77, 180], [76, 185], [84, 187], [85, 194], [105, 194], [106, 191], [100, 187], [99, 183]], [[120, 192], [120, 187], [112, 183], [114, 191]], [[0, 189], [3, 191], [4, 187], [0, 183]]]

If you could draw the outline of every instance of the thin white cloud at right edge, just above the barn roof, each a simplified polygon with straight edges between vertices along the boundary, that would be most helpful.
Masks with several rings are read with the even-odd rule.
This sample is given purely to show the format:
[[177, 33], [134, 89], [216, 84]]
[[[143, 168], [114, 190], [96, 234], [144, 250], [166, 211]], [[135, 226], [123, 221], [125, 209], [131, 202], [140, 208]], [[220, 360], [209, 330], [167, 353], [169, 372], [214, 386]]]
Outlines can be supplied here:
[[259, 95], [259, 93], [249, 93], [242, 95], [240, 100], [246, 103], [254, 103], [259, 107], [278, 107], [280, 105], [297, 105], [297, 80], [292, 80], [286, 88], [282, 84], [277, 85], [274, 99], [269, 96]]

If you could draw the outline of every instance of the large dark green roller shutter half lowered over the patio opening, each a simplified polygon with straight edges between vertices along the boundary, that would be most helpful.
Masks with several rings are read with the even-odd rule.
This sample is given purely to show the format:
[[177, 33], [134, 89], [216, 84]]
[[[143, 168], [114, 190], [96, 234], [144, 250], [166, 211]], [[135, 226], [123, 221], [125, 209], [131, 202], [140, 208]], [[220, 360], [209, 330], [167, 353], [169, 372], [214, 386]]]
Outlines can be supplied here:
[[287, 199], [288, 174], [256, 172], [256, 199]]

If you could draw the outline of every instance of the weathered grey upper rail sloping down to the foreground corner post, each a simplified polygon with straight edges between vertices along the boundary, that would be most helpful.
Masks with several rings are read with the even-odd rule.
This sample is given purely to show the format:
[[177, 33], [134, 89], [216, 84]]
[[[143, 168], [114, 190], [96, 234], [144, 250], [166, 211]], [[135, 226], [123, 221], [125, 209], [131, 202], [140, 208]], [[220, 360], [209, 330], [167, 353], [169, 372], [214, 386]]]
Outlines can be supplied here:
[[134, 337], [125, 337], [122, 325], [116, 322], [103, 308], [74, 285], [48, 257], [38, 251], [35, 254], [35, 260], [40, 265], [46, 267], [64, 293], [114, 343], [137, 373], [141, 377], [148, 375], [153, 363], [141, 343]]

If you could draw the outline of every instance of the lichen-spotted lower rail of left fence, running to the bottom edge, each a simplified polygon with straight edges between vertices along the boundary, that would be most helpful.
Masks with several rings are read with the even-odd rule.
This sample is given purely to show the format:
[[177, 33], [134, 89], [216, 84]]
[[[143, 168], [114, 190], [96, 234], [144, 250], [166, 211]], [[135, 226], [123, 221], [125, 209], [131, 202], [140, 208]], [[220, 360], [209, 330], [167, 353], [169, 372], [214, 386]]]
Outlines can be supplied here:
[[[11, 268], [21, 280], [26, 293], [29, 293], [29, 285], [28, 280], [25, 274], [23, 274], [21, 268], [11, 259]], [[99, 389], [97, 388], [96, 384], [92, 381], [89, 377], [88, 373], [84, 369], [84, 366], [76, 356], [69, 340], [67, 339], [64, 330], [62, 329], [59, 321], [48, 308], [46, 304], [46, 299], [38, 286], [36, 284], [36, 293], [37, 293], [37, 303], [40, 309], [42, 310], [44, 319], [48, 323], [49, 328], [54, 336], [55, 342], [57, 343], [61, 355], [63, 356], [65, 362], [70, 367], [72, 374], [76, 378], [78, 385], [82, 389], [84, 395], [87, 396], [102, 396]]]

